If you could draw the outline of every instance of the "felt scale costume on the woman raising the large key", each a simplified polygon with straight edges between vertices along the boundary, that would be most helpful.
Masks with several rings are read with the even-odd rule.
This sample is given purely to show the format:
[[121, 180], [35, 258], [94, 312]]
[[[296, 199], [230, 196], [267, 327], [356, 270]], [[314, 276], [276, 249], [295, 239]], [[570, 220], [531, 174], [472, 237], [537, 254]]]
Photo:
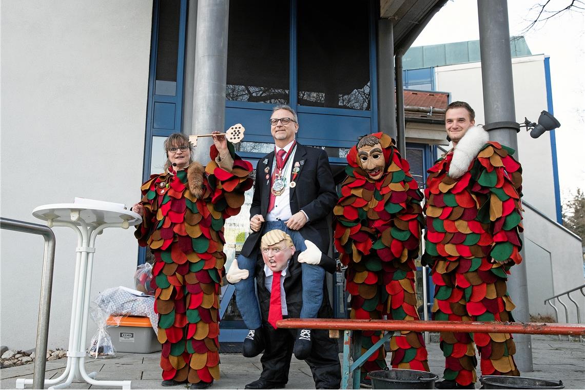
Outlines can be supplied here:
[[163, 379], [198, 383], [219, 379], [219, 288], [224, 274], [223, 223], [236, 215], [244, 191], [252, 187], [252, 165], [233, 153], [231, 172], [215, 162], [207, 167], [172, 167], [142, 185], [144, 220], [140, 245], [154, 253], [154, 310], [163, 344]]

